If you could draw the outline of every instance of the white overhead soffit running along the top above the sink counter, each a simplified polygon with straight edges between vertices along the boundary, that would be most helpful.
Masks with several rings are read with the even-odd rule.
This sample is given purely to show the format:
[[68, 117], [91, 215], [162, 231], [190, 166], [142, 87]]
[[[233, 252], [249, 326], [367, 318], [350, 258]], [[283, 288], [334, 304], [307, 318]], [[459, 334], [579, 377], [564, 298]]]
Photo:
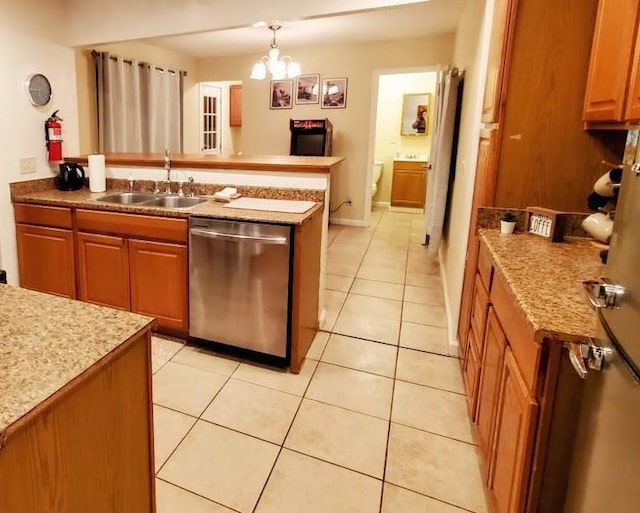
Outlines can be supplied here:
[[237, 0], [64, 0], [67, 16], [62, 32], [69, 46], [81, 46], [251, 26], [259, 20], [302, 20], [418, 1], [423, 0], [271, 0], [250, 5]]

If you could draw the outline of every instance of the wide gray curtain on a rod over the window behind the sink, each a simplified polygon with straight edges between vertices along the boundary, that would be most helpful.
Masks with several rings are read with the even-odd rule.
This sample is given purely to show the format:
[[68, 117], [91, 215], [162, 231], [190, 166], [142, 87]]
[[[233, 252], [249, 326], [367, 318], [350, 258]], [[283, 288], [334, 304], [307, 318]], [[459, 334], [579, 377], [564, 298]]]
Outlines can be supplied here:
[[94, 52], [101, 153], [182, 151], [182, 76]]

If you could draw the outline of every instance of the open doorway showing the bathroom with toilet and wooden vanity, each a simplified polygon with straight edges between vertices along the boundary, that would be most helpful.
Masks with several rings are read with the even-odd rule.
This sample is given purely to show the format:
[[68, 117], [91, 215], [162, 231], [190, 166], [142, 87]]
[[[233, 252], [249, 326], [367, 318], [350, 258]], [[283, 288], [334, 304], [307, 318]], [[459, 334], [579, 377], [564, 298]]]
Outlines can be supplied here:
[[[371, 210], [423, 211], [439, 68], [374, 72], [365, 222]], [[413, 112], [413, 103], [416, 112]], [[426, 110], [425, 110], [426, 108]], [[418, 112], [420, 111], [420, 112]], [[424, 130], [404, 130], [405, 118], [426, 113]], [[412, 123], [408, 122], [410, 126]], [[393, 196], [393, 198], [392, 198]]]

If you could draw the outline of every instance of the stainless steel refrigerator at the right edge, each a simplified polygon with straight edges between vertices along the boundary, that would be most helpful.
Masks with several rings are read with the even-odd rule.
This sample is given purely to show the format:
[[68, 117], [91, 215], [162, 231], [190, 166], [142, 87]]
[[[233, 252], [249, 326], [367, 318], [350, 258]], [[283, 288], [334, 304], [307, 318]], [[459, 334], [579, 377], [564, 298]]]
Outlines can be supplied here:
[[[565, 513], [640, 511], [640, 151], [630, 130], [606, 280], [587, 287], [598, 305], [601, 371], [589, 370]], [[588, 350], [587, 350], [588, 349]], [[597, 366], [597, 365], [595, 365]]]

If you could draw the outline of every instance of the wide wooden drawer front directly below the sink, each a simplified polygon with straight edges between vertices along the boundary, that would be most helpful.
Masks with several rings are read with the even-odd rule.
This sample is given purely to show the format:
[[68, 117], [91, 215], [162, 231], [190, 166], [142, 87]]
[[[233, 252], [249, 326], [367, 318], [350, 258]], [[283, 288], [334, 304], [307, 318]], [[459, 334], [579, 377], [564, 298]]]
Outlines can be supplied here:
[[182, 243], [188, 238], [186, 219], [78, 210], [76, 222], [84, 231]]

